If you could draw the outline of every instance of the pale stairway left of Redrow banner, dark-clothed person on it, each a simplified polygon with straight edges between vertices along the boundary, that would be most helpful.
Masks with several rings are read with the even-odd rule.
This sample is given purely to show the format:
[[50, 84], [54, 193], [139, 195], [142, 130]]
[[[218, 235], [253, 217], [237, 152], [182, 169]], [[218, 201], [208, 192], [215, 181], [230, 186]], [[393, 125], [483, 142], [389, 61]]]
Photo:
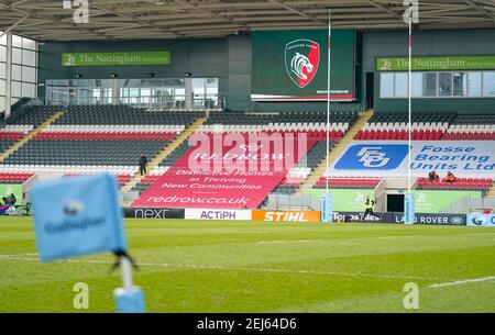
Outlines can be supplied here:
[[[147, 175], [150, 176], [150, 172], [158, 166], [158, 164], [164, 160], [168, 155], [172, 154], [184, 141], [189, 138], [189, 136], [196, 132], [205, 122], [207, 121], [207, 118], [199, 118], [193, 124], [186, 129], [184, 132], [182, 132], [174, 141], [172, 141], [166, 147], [163, 148], [162, 152], [156, 155], [156, 157], [151, 160], [147, 164], [146, 170]], [[138, 171], [129, 181], [121, 188], [121, 193], [125, 193], [132, 190], [133, 187], [135, 187], [141, 179], [143, 179], [146, 176], [141, 176], [141, 174]]]

